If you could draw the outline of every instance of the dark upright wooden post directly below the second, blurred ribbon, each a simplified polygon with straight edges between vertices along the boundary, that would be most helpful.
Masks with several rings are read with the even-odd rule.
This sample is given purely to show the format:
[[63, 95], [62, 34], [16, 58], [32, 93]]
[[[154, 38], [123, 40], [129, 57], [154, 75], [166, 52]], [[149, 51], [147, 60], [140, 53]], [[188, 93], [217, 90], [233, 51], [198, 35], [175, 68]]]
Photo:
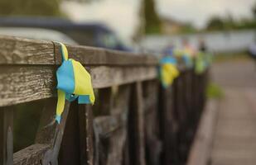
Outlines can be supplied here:
[[[175, 80], [176, 84], [176, 80]], [[175, 85], [173, 84], [173, 85]], [[160, 123], [160, 134], [162, 139], [162, 159], [161, 164], [178, 164], [178, 141], [177, 141], [177, 130], [178, 130], [178, 118], [175, 115], [176, 109], [174, 106], [175, 95], [174, 88], [176, 86], [168, 87], [167, 89], [159, 86], [159, 123]]]

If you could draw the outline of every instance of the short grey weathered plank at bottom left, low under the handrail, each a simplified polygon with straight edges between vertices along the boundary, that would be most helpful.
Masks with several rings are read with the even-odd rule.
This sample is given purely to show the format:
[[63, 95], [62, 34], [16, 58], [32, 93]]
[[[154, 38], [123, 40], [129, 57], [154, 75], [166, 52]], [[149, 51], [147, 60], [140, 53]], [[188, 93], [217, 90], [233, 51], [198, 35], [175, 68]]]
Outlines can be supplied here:
[[51, 148], [50, 144], [33, 144], [13, 155], [14, 165], [33, 164], [41, 165], [41, 159], [46, 151]]

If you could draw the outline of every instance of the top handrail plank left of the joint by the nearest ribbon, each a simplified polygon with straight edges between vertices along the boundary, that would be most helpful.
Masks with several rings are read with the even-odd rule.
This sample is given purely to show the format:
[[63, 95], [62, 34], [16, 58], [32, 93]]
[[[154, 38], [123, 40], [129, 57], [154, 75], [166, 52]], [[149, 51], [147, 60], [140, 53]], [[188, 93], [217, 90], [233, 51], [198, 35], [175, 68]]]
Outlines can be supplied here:
[[0, 35], [0, 64], [55, 64], [52, 42]]

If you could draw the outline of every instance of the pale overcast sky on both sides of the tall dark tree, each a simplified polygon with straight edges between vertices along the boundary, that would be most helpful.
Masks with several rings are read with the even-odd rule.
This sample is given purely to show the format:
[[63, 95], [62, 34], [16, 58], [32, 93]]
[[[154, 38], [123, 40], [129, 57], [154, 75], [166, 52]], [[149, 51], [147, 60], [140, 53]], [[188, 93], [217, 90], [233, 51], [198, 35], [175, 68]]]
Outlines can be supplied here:
[[[251, 16], [256, 0], [156, 0], [157, 12], [178, 21], [190, 21], [196, 27], [205, 26], [209, 16], [236, 18]], [[99, 0], [90, 3], [65, 2], [62, 9], [75, 21], [103, 21], [127, 39], [138, 25], [139, 0]]]

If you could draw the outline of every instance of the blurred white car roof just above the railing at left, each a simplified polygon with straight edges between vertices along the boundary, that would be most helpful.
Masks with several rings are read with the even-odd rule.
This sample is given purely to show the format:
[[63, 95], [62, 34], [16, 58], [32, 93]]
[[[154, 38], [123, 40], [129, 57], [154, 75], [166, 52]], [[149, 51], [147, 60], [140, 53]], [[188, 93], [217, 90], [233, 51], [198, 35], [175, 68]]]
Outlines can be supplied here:
[[79, 45], [60, 31], [32, 27], [0, 27], [0, 35], [19, 36], [37, 40], [52, 40], [69, 45]]

